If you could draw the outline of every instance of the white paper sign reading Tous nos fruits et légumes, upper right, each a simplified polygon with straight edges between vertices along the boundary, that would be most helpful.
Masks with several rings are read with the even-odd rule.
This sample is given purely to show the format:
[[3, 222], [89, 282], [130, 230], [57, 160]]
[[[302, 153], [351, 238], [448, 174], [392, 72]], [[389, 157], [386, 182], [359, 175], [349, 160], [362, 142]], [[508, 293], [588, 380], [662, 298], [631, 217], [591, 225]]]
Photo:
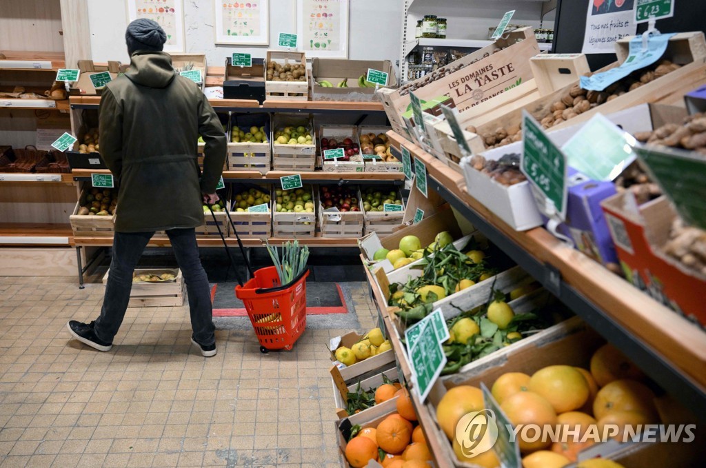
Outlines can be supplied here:
[[590, 0], [581, 52], [615, 54], [616, 41], [637, 30], [635, 0]]

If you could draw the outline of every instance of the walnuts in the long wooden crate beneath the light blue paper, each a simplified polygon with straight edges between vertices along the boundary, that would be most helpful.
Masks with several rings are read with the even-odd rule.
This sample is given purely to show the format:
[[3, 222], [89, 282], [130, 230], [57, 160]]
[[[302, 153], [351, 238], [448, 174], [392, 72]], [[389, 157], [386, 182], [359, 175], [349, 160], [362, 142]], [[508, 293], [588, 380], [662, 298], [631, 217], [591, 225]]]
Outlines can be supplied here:
[[[626, 92], [640, 88], [640, 86], [650, 83], [650, 81], [656, 80], [678, 68], [681, 68], [681, 65], [672, 64], [669, 60], [662, 60], [649, 68], [642, 68], [631, 73], [603, 91], [587, 91], [579, 85], [573, 85], [561, 97], [561, 100], [551, 104], [547, 114], [543, 116], [535, 115], [535, 117], [545, 129], [563, 124], [563, 122], [573, 119], [579, 114], [588, 112], [604, 102], [614, 100], [616, 97], [626, 94]], [[515, 125], [511, 128], [498, 128], [493, 133], [482, 132], [479, 135], [483, 138], [486, 148], [498, 148], [522, 140], [522, 129], [520, 127]], [[477, 133], [474, 127], [469, 127], [467, 130]]]

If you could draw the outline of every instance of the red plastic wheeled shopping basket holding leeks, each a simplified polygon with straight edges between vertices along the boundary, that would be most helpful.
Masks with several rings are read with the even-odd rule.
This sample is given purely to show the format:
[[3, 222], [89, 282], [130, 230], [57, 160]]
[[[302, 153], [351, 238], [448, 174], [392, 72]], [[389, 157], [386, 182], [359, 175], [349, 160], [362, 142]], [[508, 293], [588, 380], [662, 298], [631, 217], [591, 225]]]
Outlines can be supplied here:
[[289, 284], [280, 285], [277, 268], [261, 268], [243, 286], [235, 287], [235, 296], [243, 301], [260, 351], [292, 349], [306, 328], [306, 277], [309, 270]]

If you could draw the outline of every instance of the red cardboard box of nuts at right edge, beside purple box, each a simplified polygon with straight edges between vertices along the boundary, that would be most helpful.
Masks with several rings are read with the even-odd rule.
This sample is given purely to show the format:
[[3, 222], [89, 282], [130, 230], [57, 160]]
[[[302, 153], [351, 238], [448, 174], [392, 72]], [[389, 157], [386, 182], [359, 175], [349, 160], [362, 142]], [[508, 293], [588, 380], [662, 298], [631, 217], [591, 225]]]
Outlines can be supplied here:
[[677, 215], [665, 196], [637, 206], [632, 193], [602, 202], [626, 279], [660, 304], [706, 326], [706, 277], [667, 256], [662, 246]]

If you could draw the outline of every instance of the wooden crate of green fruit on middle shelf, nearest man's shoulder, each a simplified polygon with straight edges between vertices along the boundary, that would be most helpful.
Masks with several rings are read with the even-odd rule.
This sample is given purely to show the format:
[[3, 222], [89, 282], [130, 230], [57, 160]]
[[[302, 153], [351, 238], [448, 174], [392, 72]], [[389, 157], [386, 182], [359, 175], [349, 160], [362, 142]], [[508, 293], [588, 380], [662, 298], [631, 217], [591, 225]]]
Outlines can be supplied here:
[[[248, 133], [252, 127], [265, 127], [265, 143], [233, 142], [232, 132], [239, 128]], [[231, 114], [228, 125], [228, 169], [251, 170], [265, 175], [272, 157], [270, 114]]]

